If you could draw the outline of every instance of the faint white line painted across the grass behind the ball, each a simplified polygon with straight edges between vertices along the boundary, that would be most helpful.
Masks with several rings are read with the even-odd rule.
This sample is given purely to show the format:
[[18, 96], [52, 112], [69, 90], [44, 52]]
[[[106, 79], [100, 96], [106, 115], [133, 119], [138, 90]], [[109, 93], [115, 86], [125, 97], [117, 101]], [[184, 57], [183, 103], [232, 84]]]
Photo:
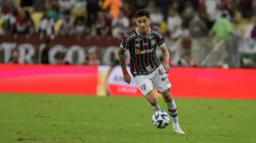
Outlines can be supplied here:
[[[24, 121], [22, 120], [0, 120], [0, 122], [19, 122], [22, 123]], [[130, 125], [130, 126], [137, 126], [137, 125], [145, 125], [145, 124], [138, 124], [138, 123], [97, 123], [97, 122], [83, 122], [83, 123], [77, 123], [77, 122], [55, 122], [52, 124], [84, 124], [84, 125], [93, 125], [93, 124], [100, 124], [100, 125]], [[249, 129], [249, 127], [228, 127], [228, 126], [193, 126], [193, 125], [181, 125], [181, 127], [205, 127], [205, 128], [227, 128], [227, 129]]]

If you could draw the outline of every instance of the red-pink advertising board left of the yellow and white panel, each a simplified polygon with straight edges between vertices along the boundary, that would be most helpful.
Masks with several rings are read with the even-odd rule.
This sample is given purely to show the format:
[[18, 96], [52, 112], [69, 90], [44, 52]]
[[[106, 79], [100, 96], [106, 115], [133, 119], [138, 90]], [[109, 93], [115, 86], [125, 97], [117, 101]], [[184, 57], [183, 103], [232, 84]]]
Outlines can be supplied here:
[[0, 93], [96, 95], [97, 67], [0, 64]]

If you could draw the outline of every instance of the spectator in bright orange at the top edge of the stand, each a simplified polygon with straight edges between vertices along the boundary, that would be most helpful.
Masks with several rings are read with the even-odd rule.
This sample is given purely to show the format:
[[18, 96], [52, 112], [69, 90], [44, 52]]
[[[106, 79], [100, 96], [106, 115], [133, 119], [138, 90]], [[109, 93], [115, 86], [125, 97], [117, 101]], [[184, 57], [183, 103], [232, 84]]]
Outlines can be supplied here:
[[113, 19], [118, 17], [121, 7], [122, 7], [121, 0], [104, 0], [102, 4], [103, 10], [107, 10], [109, 8], [109, 13]]

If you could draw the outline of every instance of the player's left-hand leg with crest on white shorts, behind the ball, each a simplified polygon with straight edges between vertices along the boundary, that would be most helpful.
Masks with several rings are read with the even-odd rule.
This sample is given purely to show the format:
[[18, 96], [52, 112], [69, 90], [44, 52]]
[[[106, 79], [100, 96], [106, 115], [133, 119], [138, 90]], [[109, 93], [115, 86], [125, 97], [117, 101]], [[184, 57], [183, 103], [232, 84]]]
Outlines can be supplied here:
[[152, 106], [154, 113], [156, 111], [161, 111], [158, 105], [157, 96], [155, 95], [153, 90], [152, 81], [149, 80], [146, 75], [135, 76], [134, 79], [138, 88], [141, 90], [142, 94], [147, 99], [149, 105]]

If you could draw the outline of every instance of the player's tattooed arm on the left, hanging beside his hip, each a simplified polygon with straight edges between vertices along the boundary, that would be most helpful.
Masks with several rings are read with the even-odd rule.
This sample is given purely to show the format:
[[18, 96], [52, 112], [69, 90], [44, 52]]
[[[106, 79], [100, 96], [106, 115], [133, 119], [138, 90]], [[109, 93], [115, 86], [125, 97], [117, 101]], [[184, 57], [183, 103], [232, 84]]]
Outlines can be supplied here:
[[[124, 38], [124, 40], [125, 40], [125, 38]], [[127, 46], [127, 45], [129, 45], [129, 43], [124, 44], [124, 40], [122, 41], [122, 43], [118, 49], [118, 60], [119, 60], [120, 66], [123, 71], [123, 79], [126, 83], [130, 84], [131, 76], [126, 69], [125, 58], [124, 58], [124, 52], [127, 48], [129, 48], [129, 46]]]

